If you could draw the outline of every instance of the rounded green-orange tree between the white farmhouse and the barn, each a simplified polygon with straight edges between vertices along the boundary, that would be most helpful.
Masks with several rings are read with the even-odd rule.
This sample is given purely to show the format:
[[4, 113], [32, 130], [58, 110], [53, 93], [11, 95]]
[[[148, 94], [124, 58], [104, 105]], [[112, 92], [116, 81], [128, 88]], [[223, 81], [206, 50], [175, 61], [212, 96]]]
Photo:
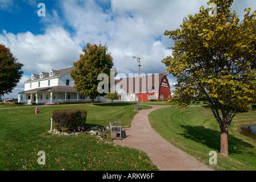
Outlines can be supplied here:
[[83, 52], [80, 59], [74, 62], [75, 69], [71, 70], [70, 76], [74, 80], [74, 88], [79, 93], [90, 96], [93, 105], [95, 97], [106, 94], [98, 93], [97, 86], [101, 80], [97, 80], [97, 77], [100, 73], [106, 73], [110, 77], [110, 69], [114, 63], [111, 54], [107, 52], [107, 46], [102, 46], [101, 43], [87, 43]]

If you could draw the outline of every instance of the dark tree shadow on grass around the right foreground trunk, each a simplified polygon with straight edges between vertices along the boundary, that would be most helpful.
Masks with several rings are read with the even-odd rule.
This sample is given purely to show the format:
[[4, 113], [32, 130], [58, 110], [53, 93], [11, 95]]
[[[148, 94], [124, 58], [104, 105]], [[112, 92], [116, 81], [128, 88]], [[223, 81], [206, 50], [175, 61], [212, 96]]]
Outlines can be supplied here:
[[[181, 126], [185, 129], [184, 133], [179, 134], [186, 139], [193, 140], [194, 142], [202, 143], [209, 148], [218, 150], [220, 152], [221, 147], [221, 132], [211, 129], [206, 129], [203, 126]], [[250, 143], [247, 143], [241, 139], [229, 134], [229, 154], [246, 154], [256, 155], [256, 150]]]

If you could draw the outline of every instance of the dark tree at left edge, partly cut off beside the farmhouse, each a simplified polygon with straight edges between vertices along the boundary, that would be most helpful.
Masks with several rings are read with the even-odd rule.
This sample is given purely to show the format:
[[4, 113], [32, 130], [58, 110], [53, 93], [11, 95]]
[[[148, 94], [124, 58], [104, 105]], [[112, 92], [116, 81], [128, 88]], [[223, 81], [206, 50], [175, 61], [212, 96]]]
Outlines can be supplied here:
[[13, 91], [23, 74], [23, 64], [17, 61], [10, 48], [0, 44], [0, 96]]

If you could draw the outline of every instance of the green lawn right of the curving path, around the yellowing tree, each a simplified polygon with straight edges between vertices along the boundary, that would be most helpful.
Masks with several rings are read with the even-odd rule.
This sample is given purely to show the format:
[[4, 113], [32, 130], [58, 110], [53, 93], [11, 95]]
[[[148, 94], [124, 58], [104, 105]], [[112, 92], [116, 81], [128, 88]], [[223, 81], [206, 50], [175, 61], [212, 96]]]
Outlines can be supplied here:
[[209, 152], [218, 153], [217, 170], [255, 170], [256, 140], [239, 133], [240, 126], [256, 125], [256, 110], [238, 113], [229, 131], [229, 158], [219, 155], [220, 130], [209, 107], [158, 109], [149, 115], [151, 126], [174, 146], [209, 165]]

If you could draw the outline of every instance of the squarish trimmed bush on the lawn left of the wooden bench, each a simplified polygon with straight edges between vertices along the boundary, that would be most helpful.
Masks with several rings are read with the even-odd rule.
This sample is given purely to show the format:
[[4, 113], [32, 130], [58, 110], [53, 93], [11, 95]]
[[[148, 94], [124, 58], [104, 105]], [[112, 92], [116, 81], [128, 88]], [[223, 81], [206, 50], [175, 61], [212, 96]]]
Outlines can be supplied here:
[[85, 109], [59, 109], [53, 111], [55, 129], [74, 131], [85, 125], [87, 111]]

